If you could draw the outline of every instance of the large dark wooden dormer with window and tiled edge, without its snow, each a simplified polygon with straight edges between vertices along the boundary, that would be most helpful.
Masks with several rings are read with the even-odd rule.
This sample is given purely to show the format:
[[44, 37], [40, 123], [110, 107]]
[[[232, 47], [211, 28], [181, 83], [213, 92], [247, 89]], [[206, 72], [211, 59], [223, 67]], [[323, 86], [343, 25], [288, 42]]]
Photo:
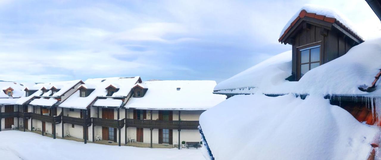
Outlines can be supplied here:
[[364, 40], [336, 18], [302, 10], [279, 42], [292, 45], [292, 75], [298, 81], [314, 67], [336, 59]]

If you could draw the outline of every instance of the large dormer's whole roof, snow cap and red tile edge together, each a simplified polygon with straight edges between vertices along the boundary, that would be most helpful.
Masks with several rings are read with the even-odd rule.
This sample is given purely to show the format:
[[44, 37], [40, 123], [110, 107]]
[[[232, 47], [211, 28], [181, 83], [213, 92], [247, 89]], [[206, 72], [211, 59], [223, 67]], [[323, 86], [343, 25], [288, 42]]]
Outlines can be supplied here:
[[336, 27], [355, 42], [364, 42], [363, 38], [354, 30], [351, 22], [344, 18], [341, 13], [315, 5], [304, 5], [285, 25], [278, 41], [284, 44], [292, 44], [293, 42], [289, 38], [291, 35], [296, 34], [295, 31], [298, 30], [299, 24], [303, 21], [319, 24], [328, 30], [331, 27]]

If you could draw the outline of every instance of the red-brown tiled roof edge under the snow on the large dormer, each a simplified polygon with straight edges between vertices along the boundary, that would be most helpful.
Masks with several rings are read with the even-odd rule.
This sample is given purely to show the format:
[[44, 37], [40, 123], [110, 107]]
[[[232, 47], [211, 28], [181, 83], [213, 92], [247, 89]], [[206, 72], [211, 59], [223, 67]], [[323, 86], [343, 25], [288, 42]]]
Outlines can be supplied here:
[[354, 37], [356, 37], [357, 39], [359, 39], [361, 41], [364, 41], [359, 35], [355, 34], [351, 29], [344, 26], [344, 24], [339, 22], [336, 18], [326, 17], [323, 15], [315, 14], [315, 13], [308, 13], [306, 10], [300, 11], [299, 16], [294, 19], [294, 21], [290, 24], [290, 26], [288, 26], [288, 28], [285, 30], [285, 32], [282, 34], [282, 36], [280, 36], [278, 41], [281, 42], [281, 40], [285, 37], [285, 35], [288, 33], [288, 31], [290, 31], [290, 29], [296, 24], [296, 22], [298, 22], [299, 19], [304, 18], [304, 17], [311, 17], [311, 18], [319, 19], [322, 21], [330, 22], [330, 23], [336, 22], [336, 24], [343, 27], [351, 35], [353, 35]]

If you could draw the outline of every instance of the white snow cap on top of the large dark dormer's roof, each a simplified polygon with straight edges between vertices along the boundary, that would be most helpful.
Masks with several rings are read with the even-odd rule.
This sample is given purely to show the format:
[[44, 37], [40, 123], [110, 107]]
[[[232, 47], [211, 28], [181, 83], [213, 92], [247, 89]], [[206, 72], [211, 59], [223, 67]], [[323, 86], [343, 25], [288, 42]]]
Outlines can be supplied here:
[[295, 19], [298, 18], [299, 13], [303, 10], [306, 11], [307, 13], [314, 13], [318, 16], [320, 15], [320, 16], [325, 16], [327, 18], [333, 18], [335, 20], [333, 22], [338, 22], [339, 24], [345, 26], [346, 29], [348, 29], [350, 32], [353, 32], [355, 35], [357, 35], [360, 39], [363, 39], [362, 36], [359, 34], [359, 32], [352, 25], [351, 21], [349, 21], [346, 18], [346, 16], [341, 14], [339, 11], [336, 11], [331, 8], [326, 8], [326, 7], [311, 5], [311, 4], [304, 5], [299, 11], [296, 12], [294, 16], [291, 17], [291, 19], [287, 22], [287, 24], [283, 27], [282, 31], [280, 32], [279, 38], [282, 37], [282, 35], [287, 31], [288, 27], [291, 26], [293, 21], [295, 21]]

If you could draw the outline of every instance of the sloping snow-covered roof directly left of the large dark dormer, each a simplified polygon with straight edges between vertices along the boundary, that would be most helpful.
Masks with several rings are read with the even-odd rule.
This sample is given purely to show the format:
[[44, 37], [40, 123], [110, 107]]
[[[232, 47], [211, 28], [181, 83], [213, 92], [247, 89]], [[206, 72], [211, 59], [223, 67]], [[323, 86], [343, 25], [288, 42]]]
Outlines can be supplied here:
[[291, 51], [277, 54], [233, 77], [214, 88], [214, 93], [253, 94], [259, 86], [285, 82], [291, 75]]

